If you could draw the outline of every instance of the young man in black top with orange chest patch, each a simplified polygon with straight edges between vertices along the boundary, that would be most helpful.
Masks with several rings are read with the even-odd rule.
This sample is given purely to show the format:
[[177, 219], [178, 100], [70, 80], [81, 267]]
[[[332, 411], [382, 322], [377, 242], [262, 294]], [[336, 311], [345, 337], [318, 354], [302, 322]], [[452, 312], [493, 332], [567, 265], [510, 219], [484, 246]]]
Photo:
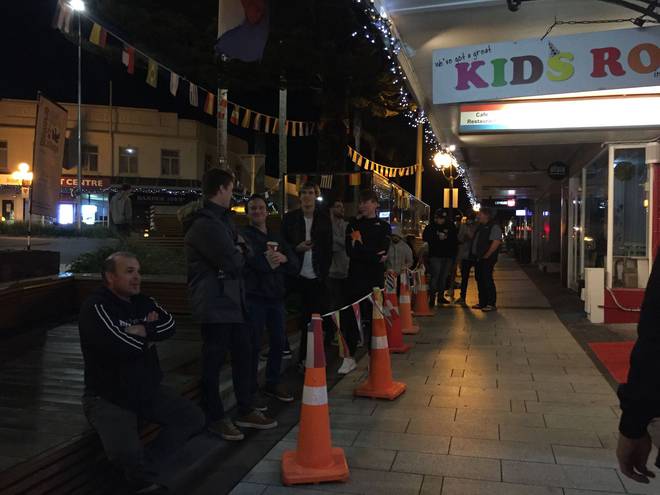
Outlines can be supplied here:
[[[374, 287], [383, 288], [385, 285], [385, 261], [392, 230], [389, 223], [378, 218], [377, 209], [378, 195], [371, 190], [362, 191], [358, 217], [351, 219], [346, 226], [346, 254], [350, 259], [348, 286], [352, 301], [371, 293]], [[371, 304], [364, 302], [360, 313], [365, 324], [364, 342], [370, 346]], [[356, 368], [355, 351], [360, 335], [357, 322], [355, 325], [349, 325], [344, 335], [351, 358], [344, 360], [342, 368], [339, 369], [341, 374], [350, 373]]]

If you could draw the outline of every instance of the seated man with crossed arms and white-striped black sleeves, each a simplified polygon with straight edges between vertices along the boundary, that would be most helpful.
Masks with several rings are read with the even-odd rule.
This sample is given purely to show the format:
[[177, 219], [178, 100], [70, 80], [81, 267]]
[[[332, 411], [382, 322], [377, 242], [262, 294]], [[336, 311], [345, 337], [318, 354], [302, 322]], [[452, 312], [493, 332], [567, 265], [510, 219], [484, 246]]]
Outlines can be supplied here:
[[[83, 409], [134, 493], [159, 493], [164, 490], [157, 483], [162, 463], [204, 428], [204, 415], [161, 384], [155, 343], [174, 335], [176, 323], [140, 293], [135, 255], [112, 254], [102, 278], [104, 286], [83, 303], [78, 323], [85, 363]], [[145, 453], [140, 420], [161, 426]]]

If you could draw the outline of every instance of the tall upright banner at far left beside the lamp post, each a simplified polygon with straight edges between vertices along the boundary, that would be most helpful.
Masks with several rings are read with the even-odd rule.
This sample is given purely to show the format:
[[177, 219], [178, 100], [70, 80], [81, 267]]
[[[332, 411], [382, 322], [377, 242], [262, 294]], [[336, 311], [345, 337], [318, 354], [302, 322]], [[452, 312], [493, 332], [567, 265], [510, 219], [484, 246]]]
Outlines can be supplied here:
[[34, 178], [30, 201], [30, 212], [35, 215], [57, 216], [66, 124], [67, 111], [39, 95], [37, 123], [34, 129]]

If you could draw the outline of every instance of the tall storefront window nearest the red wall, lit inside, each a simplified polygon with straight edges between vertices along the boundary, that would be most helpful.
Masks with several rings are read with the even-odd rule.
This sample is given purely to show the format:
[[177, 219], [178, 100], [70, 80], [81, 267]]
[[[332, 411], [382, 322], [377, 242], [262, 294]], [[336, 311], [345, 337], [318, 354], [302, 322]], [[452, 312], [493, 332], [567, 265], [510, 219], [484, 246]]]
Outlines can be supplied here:
[[645, 158], [644, 148], [614, 150], [613, 287], [643, 288], [648, 279]]

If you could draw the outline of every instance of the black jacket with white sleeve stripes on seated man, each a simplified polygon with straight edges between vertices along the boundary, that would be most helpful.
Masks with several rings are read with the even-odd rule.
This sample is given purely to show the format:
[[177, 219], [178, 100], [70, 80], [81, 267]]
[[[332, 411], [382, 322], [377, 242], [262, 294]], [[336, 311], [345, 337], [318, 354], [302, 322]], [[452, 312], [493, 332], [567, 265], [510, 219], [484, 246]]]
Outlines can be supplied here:
[[[146, 322], [152, 311], [158, 320]], [[126, 333], [132, 325], [144, 325], [147, 338]], [[150, 297], [138, 294], [128, 302], [102, 287], [83, 303], [78, 329], [85, 394], [132, 410], [148, 403], [163, 378], [153, 342], [174, 335], [174, 318]]]

